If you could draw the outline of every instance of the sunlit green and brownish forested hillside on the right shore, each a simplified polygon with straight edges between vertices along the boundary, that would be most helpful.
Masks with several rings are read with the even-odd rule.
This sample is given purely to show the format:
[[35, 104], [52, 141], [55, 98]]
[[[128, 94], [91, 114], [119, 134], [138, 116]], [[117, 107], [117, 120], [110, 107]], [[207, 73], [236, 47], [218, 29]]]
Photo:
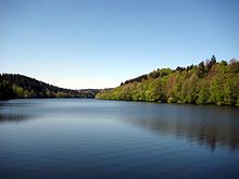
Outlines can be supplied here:
[[210, 60], [187, 67], [158, 68], [102, 90], [97, 99], [239, 105], [239, 62]]

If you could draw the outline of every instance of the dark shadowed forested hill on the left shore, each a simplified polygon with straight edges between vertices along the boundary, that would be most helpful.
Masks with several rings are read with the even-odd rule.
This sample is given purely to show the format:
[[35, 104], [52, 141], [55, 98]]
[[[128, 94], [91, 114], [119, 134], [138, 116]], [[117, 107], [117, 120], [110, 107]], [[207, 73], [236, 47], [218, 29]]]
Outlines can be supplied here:
[[0, 74], [0, 100], [14, 98], [95, 98], [98, 89], [71, 90], [15, 74]]

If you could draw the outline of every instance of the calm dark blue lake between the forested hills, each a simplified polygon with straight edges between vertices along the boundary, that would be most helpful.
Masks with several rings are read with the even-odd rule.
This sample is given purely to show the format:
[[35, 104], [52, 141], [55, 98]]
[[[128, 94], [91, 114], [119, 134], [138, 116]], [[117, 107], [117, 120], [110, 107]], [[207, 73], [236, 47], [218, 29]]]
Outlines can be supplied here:
[[239, 108], [0, 101], [0, 178], [239, 178]]

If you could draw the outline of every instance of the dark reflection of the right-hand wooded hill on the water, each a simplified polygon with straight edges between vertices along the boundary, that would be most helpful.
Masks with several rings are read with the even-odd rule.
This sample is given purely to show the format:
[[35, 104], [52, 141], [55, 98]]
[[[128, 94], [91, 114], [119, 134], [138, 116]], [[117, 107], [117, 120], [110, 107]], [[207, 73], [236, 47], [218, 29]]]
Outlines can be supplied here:
[[[162, 106], [161, 106], [162, 107]], [[169, 107], [169, 105], [168, 105]], [[124, 123], [158, 135], [171, 135], [206, 144], [212, 150], [226, 145], [239, 149], [239, 111], [217, 106], [175, 106], [146, 110], [141, 116], [122, 118]], [[177, 110], [175, 110], [177, 107]], [[159, 112], [162, 110], [163, 112]], [[154, 113], [154, 114], [153, 114]], [[156, 114], [156, 115], [155, 115]]]

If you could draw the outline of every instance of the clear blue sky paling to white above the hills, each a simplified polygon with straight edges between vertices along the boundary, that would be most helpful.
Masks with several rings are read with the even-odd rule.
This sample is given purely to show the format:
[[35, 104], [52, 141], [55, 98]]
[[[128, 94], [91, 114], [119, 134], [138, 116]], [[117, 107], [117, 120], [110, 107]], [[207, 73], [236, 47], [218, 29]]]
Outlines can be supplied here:
[[239, 57], [239, 0], [0, 0], [0, 73], [106, 88]]

